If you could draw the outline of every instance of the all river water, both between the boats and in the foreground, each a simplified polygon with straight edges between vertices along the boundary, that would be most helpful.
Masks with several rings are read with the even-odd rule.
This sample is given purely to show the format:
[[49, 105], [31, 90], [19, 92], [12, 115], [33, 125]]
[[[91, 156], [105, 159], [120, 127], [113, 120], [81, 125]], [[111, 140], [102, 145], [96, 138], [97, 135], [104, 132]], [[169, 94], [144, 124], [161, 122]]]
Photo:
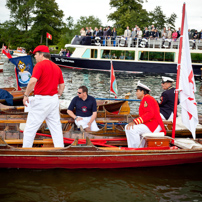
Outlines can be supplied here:
[[[113, 98], [109, 94], [109, 72], [62, 69], [65, 91], [62, 99], [71, 100], [77, 88], [86, 85], [96, 98]], [[131, 92], [136, 99], [138, 80], [148, 85], [151, 95], [159, 99], [162, 75], [116, 73], [118, 98]], [[176, 78], [176, 75], [167, 75]], [[0, 73], [0, 87], [16, 86], [13, 65], [5, 62]], [[200, 80], [196, 79], [197, 102]], [[131, 113], [137, 113], [139, 102], [130, 102]], [[202, 114], [202, 105], [198, 105]], [[26, 170], [0, 169], [0, 201], [202, 201], [202, 164], [131, 169]]]

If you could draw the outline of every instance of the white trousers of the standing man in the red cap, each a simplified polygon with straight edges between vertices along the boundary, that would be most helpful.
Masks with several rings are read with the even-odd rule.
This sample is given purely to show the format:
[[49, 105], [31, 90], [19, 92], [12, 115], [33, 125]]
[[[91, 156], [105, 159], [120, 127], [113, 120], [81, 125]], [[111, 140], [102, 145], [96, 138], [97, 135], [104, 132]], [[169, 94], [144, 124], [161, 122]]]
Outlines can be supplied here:
[[46, 120], [55, 147], [64, 147], [59, 114], [58, 95], [35, 95], [30, 101], [30, 109], [23, 136], [23, 147], [32, 147], [37, 130]]

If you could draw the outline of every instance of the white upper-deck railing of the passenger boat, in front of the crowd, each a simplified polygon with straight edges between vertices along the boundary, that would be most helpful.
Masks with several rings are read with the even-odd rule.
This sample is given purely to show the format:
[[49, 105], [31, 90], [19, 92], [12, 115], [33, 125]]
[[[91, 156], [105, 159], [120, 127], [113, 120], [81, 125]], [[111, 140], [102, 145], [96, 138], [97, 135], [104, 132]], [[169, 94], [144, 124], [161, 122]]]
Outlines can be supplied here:
[[[177, 40], [164, 38], [137, 38], [137, 37], [108, 37], [108, 36], [79, 36], [76, 35], [72, 45], [108, 46], [108, 47], [138, 47], [138, 48], [164, 48], [178, 49]], [[202, 40], [189, 40], [190, 49], [202, 50]]]

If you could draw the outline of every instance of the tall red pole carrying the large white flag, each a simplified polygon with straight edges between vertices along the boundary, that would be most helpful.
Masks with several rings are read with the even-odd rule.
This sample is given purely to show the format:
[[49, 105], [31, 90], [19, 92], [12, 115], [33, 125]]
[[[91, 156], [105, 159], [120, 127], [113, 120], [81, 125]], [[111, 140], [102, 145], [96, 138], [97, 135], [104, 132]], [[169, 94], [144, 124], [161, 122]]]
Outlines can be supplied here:
[[[183, 42], [183, 32], [184, 32], [184, 18], [185, 18], [185, 3], [183, 4], [183, 9], [182, 9], [182, 23], [181, 23], [180, 47], [179, 47], [179, 55], [178, 55], [178, 63], [177, 63], [177, 79], [176, 79], [176, 89], [175, 89], [172, 143], [174, 143], [174, 139], [175, 139], [177, 103], [178, 103], [178, 94], [179, 94], [179, 81], [180, 81], [180, 69], [181, 69], [181, 57], [182, 57], [182, 42]], [[185, 31], [187, 31], [187, 30], [185, 30]]]

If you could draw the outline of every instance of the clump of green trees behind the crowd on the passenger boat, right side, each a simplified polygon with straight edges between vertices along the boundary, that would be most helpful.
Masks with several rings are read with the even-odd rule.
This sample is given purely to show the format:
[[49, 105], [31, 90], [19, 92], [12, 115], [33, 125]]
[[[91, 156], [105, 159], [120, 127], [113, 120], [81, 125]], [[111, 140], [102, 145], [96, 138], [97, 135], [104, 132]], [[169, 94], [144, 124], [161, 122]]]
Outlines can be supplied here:
[[148, 13], [142, 8], [142, 3], [142, 0], [110, 0], [111, 8], [116, 8], [116, 11], [108, 15], [108, 20], [115, 22], [114, 26], [117, 27], [119, 35], [124, 33], [127, 26], [131, 29], [138, 25], [143, 29], [154, 24], [159, 30], [163, 29], [165, 25], [174, 27], [176, 14], [173, 13], [167, 18], [160, 6]]

